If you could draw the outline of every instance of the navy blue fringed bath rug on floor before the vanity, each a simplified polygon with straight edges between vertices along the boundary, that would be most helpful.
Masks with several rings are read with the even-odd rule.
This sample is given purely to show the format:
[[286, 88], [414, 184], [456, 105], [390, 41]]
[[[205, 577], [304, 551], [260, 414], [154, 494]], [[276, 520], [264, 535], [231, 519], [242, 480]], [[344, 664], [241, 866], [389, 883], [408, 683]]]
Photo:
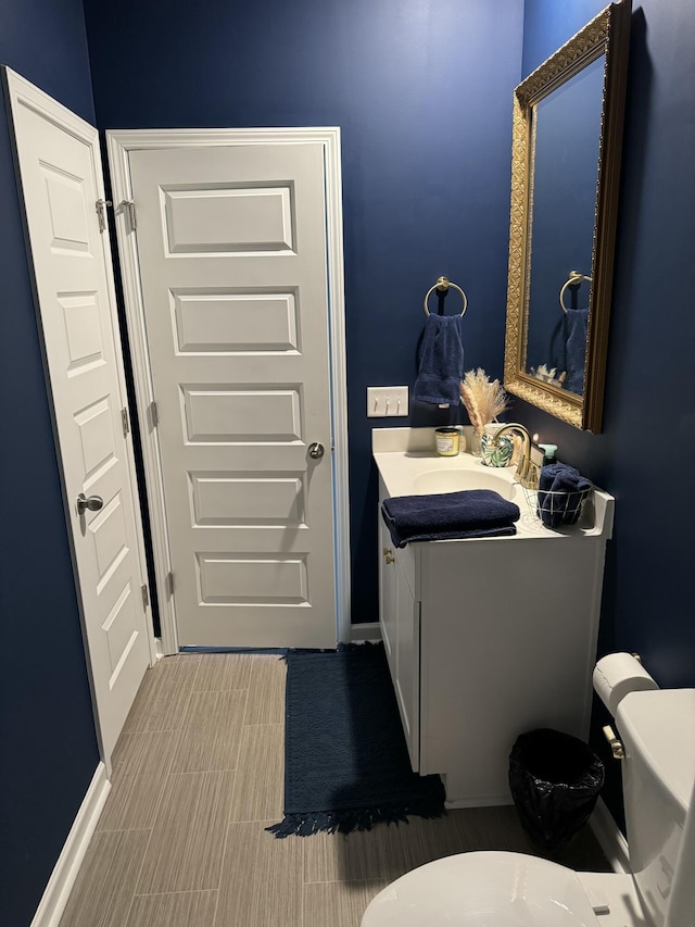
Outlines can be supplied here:
[[440, 817], [439, 776], [413, 773], [383, 644], [290, 651], [285, 817], [276, 837]]

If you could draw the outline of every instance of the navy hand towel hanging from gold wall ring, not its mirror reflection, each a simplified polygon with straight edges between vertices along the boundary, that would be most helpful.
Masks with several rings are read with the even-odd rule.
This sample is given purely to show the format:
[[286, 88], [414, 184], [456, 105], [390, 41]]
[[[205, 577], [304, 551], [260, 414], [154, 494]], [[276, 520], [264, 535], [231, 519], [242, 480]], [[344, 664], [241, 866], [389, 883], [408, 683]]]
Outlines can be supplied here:
[[420, 368], [413, 399], [437, 405], [458, 405], [464, 378], [460, 315], [428, 315]]

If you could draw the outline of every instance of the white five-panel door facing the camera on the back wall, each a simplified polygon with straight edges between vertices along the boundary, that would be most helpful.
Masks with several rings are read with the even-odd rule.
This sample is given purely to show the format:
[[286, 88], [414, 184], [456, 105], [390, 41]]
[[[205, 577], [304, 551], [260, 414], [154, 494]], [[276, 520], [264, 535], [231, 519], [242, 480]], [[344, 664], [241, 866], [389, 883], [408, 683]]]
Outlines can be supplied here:
[[334, 646], [323, 148], [129, 171], [179, 646]]

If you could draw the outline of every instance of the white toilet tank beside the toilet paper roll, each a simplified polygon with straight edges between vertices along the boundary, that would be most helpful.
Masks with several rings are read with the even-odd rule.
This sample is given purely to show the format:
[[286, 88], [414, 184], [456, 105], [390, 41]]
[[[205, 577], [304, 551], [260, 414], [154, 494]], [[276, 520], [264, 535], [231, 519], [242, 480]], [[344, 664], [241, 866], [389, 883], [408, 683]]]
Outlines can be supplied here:
[[626, 750], [630, 867], [644, 913], [654, 927], [693, 927], [695, 689], [630, 692], [616, 725]]

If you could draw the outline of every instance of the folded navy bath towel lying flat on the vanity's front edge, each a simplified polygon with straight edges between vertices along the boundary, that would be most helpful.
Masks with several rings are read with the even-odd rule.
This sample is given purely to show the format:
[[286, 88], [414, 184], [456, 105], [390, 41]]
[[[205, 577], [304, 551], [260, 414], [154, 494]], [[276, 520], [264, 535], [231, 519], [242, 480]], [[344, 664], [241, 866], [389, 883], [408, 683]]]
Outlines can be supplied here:
[[386, 499], [381, 514], [397, 548], [408, 541], [515, 535], [519, 506], [492, 489]]

